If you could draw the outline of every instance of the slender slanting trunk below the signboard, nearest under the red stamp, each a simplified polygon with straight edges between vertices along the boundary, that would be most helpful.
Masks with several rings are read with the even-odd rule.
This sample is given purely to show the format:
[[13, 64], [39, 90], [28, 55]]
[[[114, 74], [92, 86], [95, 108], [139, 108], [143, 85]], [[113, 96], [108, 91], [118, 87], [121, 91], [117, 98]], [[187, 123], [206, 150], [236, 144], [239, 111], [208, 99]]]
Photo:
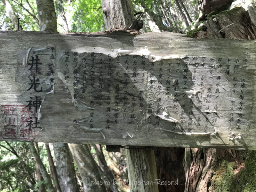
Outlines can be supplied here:
[[33, 154], [33, 156], [36, 159], [39, 170], [40, 170], [44, 180], [47, 182], [47, 188], [48, 188], [49, 192], [55, 192], [54, 187], [52, 185], [52, 180], [51, 180], [50, 176], [48, 175], [47, 170], [45, 169], [44, 164], [43, 164], [42, 160], [40, 159], [39, 154], [36, 152], [36, 148], [35, 148], [34, 144], [32, 142], [29, 143], [29, 147], [30, 147], [31, 153]]

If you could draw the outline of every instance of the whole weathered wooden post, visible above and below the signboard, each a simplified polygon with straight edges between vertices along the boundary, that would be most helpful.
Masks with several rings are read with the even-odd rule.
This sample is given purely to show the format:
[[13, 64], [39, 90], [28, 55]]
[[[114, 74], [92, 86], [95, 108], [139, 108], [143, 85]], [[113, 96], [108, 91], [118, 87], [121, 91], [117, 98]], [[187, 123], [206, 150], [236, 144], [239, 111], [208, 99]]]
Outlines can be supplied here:
[[[102, 0], [102, 10], [107, 30], [129, 28], [133, 21], [131, 0]], [[120, 151], [120, 148], [106, 145], [107, 151]], [[128, 177], [130, 191], [157, 192], [156, 184], [150, 185], [145, 182], [155, 182], [157, 179], [156, 161], [154, 151], [146, 150], [137, 146], [126, 149]], [[132, 183], [132, 185], [131, 185]], [[138, 184], [140, 183], [140, 185]]]

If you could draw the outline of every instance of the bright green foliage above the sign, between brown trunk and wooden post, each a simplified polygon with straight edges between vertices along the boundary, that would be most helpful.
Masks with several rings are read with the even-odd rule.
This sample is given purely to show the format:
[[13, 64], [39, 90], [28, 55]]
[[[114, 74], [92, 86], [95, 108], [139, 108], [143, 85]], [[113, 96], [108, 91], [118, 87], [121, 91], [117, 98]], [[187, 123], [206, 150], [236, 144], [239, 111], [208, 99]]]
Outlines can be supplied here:
[[96, 32], [105, 30], [100, 0], [77, 0], [72, 17], [71, 32]]

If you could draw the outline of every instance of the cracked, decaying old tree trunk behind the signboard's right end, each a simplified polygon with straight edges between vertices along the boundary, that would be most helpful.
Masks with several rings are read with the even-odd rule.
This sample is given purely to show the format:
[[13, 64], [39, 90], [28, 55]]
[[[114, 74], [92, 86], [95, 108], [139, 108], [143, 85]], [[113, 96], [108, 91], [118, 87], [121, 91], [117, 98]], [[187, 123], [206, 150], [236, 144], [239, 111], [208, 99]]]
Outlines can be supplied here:
[[[250, 13], [245, 11], [244, 8], [221, 12], [216, 15], [216, 21], [208, 18], [205, 23], [207, 31], [200, 33], [201, 36], [204, 34], [204, 37], [208, 38], [256, 39], [256, 25], [252, 16], [256, 15], [256, 11], [253, 10], [253, 7], [249, 9]], [[211, 191], [213, 172], [218, 168], [218, 162], [227, 160], [228, 162], [240, 163], [239, 153], [242, 152], [243, 150], [234, 149], [199, 149], [190, 166], [187, 179], [188, 187], [185, 192]]]

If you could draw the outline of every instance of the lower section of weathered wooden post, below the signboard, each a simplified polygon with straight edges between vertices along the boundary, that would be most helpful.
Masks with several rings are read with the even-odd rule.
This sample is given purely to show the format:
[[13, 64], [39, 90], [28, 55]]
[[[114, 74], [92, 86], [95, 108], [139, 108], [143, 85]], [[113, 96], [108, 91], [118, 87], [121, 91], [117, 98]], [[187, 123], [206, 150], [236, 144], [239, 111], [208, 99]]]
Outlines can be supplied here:
[[[130, 146], [126, 149], [130, 191], [158, 192], [156, 161], [154, 151]], [[161, 182], [161, 181], [160, 181]]]

